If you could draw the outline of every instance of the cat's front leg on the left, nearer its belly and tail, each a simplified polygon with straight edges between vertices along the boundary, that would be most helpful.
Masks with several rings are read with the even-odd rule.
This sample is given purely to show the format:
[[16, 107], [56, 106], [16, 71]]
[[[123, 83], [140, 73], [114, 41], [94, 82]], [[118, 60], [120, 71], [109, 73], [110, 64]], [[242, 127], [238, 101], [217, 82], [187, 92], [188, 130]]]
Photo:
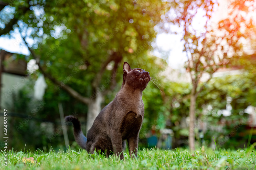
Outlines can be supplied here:
[[123, 154], [123, 140], [121, 133], [112, 130], [111, 131], [111, 141], [114, 149], [114, 153], [120, 157], [120, 159], [124, 159], [124, 154]]

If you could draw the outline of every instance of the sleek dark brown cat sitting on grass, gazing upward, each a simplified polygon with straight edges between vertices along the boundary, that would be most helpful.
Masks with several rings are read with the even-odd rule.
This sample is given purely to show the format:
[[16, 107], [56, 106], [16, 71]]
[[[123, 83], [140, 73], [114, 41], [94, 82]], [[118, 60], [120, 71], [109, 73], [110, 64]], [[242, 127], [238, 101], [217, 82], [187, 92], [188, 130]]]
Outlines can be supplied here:
[[74, 126], [74, 137], [79, 146], [89, 153], [100, 151], [108, 156], [113, 152], [124, 158], [126, 139], [130, 157], [137, 156], [138, 137], [144, 118], [142, 91], [151, 80], [149, 72], [136, 68], [131, 69], [127, 62], [123, 66], [123, 84], [114, 100], [104, 107], [88, 131], [83, 135], [77, 117], [66, 116], [67, 122]]

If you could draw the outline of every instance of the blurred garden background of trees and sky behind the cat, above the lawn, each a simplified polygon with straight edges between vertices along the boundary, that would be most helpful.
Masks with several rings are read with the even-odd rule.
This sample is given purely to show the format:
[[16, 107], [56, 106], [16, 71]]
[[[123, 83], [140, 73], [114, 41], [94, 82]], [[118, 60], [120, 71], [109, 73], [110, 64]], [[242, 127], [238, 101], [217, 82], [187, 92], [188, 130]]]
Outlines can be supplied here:
[[63, 117], [79, 117], [86, 134], [120, 90], [125, 61], [154, 77], [141, 148], [251, 145], [255, 9], [250, 0], [1, 0], [1, 148], [4, 109], [8, 149], [78, 148]]

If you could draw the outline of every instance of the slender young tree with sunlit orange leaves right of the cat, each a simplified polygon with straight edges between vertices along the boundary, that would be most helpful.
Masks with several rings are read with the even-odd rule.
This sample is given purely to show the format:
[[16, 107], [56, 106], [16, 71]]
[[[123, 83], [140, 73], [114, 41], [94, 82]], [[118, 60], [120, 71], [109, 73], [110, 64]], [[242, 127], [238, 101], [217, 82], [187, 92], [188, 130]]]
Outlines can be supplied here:
[[[238, 12], [243, 10], [245, 1], [234, 2]], [[212, 74], [215, 73], [221, 67], [228, 67], [230, 58], [234, 55], [240, 54], [242, 51], [241, 42], [238, 41], [241, 33], [241, 25], [239, 21], [233, 22], [228, 18], [219, 23], [219, 28], [216, 29], [213, 25], [210, 25], [210, 19], [214, 8], [218, 5], [217, 1], [186, 1], [186, 2], [172, 2], [169, 12], [166, 13], [164, 22], [160, 24], [160, 27], [166, 31], [169, 31], [169, 27], [166, 27], [164, 23], [171, 22], [174, 25], [178, 25], [183, 33], [184, 51], [186, 51], [188, 61], [186, 62], [186, 69], [190, 73], [192, 81], [192, 89], [190, 92], [190, 107], [189, 107], [189, 148], [191, 151], [195, 150], [195, 110], [196, 100], [199, 93], [211, 80]], [[245, 8], [248, 9], [248, 8]], [[193, 21], [197, 13], [202, 14], [203, 29], [196, 30], [193, 27]], [[247, 11], [248, 12], [248, 11]], [[241, 19], [238, 18], [238, 19]], [[250, 20], [250, 19], [249, 19]], [[224, 22], [221, 27], [221, 23]], [[248, 27], [249, 25], [246, 25]], [[252, 26], [252, 24], [250, 24]], [[226, 28], [226, 30], [225, 30]], [[240, 31], [239, 31], [240, 30]], [[251, 30], [252, 31], [252, 30]], [[233, 32], [233, 34], [231, 34]], [[240, 32], [240, 33], [239, 33]], [[174, 32], [176, 33], [176, 32]], [[223, 33], [218, 35], [217, 33]], [[248, 33], [250, 34], [250, 33]], [[244, 34], [245, 36], [248, 34]], [[240, 45], [239, 45], [240, 44]], [[241, 55], [241, 54], [240, 54]], [[208, 79], [202, 82], [202, 75], [208, 75]], [[201, 85], [200, 85], [201, 84]], [[199, 86], [200, 85], [200, 86]]]

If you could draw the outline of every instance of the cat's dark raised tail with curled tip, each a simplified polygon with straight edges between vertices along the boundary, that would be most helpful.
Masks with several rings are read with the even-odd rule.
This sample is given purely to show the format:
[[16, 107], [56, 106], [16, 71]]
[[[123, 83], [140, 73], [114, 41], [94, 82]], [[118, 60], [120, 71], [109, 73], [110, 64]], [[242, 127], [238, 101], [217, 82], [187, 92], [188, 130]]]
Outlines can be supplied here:
[[73, 123], [75, 140], [79, 146], [81, 146], [83, 149], [86, 149], [87, 138], [84, 136], [82, 132], [81, 124], [77, 117], [69, 115], [65, 117], [65, 121]]

